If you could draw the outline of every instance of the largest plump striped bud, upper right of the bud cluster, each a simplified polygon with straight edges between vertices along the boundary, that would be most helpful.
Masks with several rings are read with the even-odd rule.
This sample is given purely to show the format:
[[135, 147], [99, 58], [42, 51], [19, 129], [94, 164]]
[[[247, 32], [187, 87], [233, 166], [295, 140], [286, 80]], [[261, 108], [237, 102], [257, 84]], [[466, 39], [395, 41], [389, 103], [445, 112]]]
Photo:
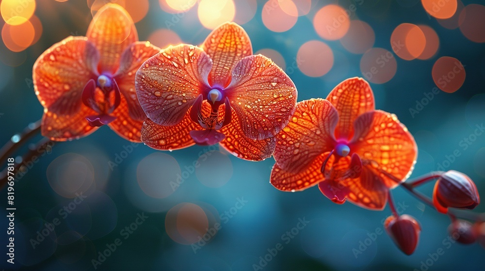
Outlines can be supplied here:
[[479, 203], [477, 187], [467, 175], [450, 170], [436, 181], [433, 204], [439, 212], [447, 213], [448, 207], [473, 209]]

